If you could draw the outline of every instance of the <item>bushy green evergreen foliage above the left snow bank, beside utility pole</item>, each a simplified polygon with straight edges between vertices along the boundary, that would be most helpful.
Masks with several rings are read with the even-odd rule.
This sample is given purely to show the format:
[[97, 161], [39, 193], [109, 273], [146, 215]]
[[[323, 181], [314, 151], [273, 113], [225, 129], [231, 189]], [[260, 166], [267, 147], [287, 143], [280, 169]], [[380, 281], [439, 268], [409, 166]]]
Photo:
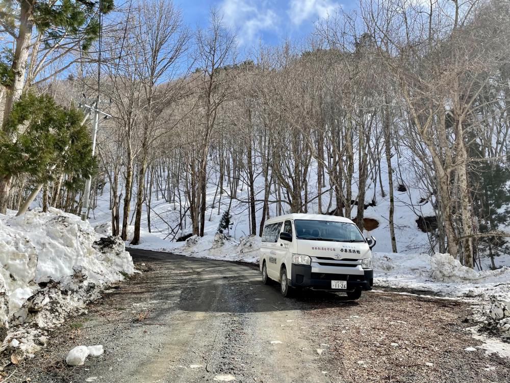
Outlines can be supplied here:
[[[89, 177], [96, 162], [82, 119], [80, 110], [66, 110], [49, 95], [25, 94], [14, 104], [5, 130], [0, 132], [0, 174], [28, 174], [37, 184], [52, 180], [52, 168], [70, 175], [71, 180]], [[23, 130], [13, 142], [10, 132], [19, 126]]]

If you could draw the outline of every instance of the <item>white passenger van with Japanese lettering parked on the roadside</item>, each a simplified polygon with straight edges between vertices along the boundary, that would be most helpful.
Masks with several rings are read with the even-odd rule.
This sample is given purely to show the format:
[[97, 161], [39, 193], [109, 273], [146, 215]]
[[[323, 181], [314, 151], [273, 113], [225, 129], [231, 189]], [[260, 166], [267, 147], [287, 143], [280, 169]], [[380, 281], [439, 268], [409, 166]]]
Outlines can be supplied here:
[[262, 233], [262, 281], [279, 282], [284, 297], [292, 289], [345, 292], [359, 299], [372, 290], [373, 237], [365, 238], [351, 220], [322, 214], [286, 214], [267, 220]]

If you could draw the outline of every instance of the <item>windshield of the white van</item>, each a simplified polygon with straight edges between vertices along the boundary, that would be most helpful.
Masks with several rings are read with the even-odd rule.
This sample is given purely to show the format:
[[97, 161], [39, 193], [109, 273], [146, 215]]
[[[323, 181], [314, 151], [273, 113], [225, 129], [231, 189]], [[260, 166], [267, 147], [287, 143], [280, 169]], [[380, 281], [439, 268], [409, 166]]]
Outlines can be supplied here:
[[294, 224], [299, 240], [365, 242], [358, 227], [348, 222], [295, 220]]

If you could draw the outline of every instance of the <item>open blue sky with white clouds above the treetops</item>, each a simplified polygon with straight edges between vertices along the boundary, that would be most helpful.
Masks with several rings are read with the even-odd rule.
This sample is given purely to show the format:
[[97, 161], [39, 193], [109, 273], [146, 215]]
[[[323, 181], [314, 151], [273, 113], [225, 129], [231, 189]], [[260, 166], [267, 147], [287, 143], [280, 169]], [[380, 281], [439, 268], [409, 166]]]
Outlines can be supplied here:
[[239, 45], [244, 48], [279, 44], [286, 38], [299, 40], [314, 29], [314, 22], [326, 17], [336, 8], [355, 6], [338, 0], [174, 0], [181, 7], [185, 22], [195, 28], [207, 26], [209, 10], [215, 7], [223, 14], [223, 21], [238, 33]]

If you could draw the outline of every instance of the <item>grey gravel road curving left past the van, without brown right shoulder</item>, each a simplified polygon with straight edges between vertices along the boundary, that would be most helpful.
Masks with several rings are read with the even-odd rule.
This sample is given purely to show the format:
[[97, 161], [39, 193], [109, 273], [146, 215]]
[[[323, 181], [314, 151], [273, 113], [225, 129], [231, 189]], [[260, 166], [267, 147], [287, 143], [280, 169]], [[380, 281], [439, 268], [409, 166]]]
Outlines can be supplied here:
[[307, 303], [263, 285], [257, 269], [129, 251], [145, 271], [107, 291], [83, 323], [82, 339], [106, 352], [72, 381], [338, 383], [320, 368]]

